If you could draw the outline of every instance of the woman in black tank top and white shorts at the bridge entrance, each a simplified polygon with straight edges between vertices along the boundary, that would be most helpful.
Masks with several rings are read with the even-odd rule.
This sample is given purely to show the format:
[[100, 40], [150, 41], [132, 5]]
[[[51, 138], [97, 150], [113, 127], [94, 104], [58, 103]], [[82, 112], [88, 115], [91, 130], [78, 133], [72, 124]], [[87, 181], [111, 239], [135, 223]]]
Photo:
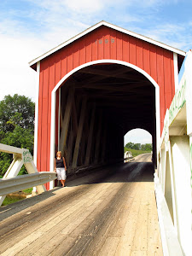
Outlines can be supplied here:
[[56, 153], [56, 159], [55, 159], [55, 172], [57, 173], [57, 179], [61, 180], [61, 187], [63, 188], [65, 186], [66, 182], [66, 161], [65, 158], [61, 156], [61, 151], [58, 151]]

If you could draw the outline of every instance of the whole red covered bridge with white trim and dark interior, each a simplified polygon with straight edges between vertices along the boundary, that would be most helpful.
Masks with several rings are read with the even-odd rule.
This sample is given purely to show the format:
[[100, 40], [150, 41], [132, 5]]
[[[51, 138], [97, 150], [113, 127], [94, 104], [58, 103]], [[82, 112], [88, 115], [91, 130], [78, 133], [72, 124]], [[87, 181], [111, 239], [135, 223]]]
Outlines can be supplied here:
[[[154, 163], [185, 52], [101, 21], [30, 62], [38, 73], [34, 159], [68, 173], [122, 161], [124, 135], [153, 137]], [[52, 188], [48, 184], [47, 189]]]

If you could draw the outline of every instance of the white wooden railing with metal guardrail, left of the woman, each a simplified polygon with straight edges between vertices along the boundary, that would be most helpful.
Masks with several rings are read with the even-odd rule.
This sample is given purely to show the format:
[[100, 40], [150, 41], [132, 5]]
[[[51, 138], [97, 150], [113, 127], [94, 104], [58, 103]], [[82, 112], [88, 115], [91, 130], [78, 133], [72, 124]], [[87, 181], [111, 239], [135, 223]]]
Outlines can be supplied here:
[[[26, 148], [15, 148], [0, 143], [0, 152], [13, 154], [13, 161], [8, 171], [0, 179], [0, 206], [9, 193], [36, 187], [38, 193], [46, 191], [44, 183], [55, 180], [55, 172], [38, 172], [33, 163], [32, 155]], [[17, 176], [22, 166], [26, 167], [28, 174]]]

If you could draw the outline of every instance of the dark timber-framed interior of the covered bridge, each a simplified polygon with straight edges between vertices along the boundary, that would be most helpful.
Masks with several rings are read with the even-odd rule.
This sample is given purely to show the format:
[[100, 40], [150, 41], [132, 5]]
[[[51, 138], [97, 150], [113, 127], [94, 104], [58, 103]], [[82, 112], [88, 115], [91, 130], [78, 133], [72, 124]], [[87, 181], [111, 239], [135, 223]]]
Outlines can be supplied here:
[[61, 86], [60, 146], [68, 170], [122, 161], [124, 135], [142, 128], [155, 136], [154, 85], [131, 67], [84, 67]]

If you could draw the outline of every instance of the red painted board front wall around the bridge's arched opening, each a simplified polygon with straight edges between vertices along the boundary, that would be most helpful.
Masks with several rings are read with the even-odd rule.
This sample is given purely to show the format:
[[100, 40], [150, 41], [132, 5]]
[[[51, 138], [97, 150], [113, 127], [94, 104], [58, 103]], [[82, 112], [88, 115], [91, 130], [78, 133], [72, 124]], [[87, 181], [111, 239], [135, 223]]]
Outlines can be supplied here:
[[175, 94], [173, 53], [107, 26], [49, 55], [40, 62], [38, 99], [38, 171], [49, 171], [51, 91], [75, 67], [89, 61], [113, 59], [142, 68], [160, 85], [160, 131], [166, 108]]

